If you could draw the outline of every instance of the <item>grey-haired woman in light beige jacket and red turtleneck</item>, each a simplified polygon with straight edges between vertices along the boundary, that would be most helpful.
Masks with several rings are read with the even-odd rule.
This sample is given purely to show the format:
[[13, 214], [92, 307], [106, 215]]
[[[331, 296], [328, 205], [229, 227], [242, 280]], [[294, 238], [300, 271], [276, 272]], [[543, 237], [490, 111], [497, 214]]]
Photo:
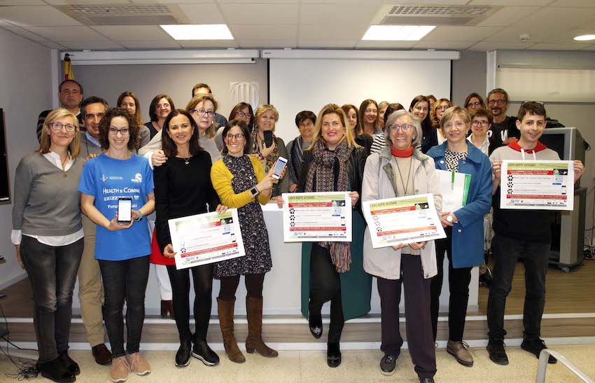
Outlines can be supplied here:
[[[424, 97], [425, 98], [425, 97]], [[405, 110], [395, 111], [384, 127], [386, 145], [367, 158], [362, 200], [374, 201], [432, 193], [440, 214], [442, 195], [434, 161], [419, 150], [422, 139], [418, 118]], [[363, 267], [378, 277], [381, 303], [380, 369], [384, 375], [395, 370], [403, 344], [399, 331], [401, 285], [405, 283], [407, 343], [420, 382], [433, 382], [436, 356], [430, 320], [430, 278], [436, 274], [434, 242], [414, 242], [374, 249], [370, 229], [365, 230]]]

